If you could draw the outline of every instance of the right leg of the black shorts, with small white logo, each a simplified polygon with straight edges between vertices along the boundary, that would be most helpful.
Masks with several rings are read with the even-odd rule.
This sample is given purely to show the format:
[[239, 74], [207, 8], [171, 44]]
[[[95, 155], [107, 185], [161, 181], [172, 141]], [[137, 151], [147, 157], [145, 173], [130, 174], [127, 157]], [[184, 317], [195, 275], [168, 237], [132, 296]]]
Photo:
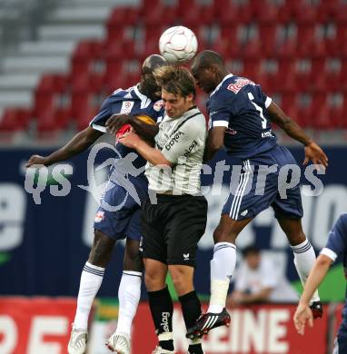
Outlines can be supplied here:
[[194, 267], [197, 244], [203, 237], [207, 221], [204, 197], [182, 196], [173, 202], [165, 225], [167, 263]]

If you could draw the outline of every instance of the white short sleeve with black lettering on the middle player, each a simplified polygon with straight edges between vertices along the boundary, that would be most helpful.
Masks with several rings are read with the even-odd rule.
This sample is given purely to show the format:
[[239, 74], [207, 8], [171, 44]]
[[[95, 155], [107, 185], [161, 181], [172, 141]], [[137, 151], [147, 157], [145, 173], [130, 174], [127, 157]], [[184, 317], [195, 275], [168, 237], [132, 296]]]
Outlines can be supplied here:
[[181, 156], [186, 157], [189, 153], [195, 151], [201, 145], [201, 142], [204, 142], [205, 126], [204, 117], [203, 119], [191, 119], [183, 123], [165, 143], [162, 150], [165, 159], [176, 163]]

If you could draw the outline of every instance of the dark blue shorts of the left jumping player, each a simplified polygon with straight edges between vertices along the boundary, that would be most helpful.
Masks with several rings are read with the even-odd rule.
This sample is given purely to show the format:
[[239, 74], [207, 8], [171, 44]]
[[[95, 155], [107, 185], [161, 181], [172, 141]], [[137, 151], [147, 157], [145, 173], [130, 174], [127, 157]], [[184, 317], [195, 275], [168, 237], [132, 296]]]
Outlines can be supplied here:
[[136, 191], [139, 198], [133, 197], [121, 185], [109, 182], [95, 215], [94, 229], [114, 240], [127, 237], [140, 241], [141, 205], [138, 202], [142, 202], [147, 195], [147, 183], [137, 185]]

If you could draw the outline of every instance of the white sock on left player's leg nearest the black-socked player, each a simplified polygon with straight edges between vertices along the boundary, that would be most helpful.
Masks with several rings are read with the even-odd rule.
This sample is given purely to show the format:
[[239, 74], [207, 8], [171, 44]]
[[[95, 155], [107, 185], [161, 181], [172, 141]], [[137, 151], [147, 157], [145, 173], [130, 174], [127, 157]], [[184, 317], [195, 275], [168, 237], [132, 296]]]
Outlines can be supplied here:
[[115, 333], [130, 336], [132, 323], [141, 297], [142, 272], [124, 270], [119, 284], [119, 313]]

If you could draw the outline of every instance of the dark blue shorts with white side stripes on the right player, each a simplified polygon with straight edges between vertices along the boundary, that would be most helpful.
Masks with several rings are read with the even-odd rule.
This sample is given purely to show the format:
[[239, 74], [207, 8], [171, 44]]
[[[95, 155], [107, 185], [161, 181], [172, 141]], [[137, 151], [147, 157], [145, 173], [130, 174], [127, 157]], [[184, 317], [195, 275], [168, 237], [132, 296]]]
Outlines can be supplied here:
[[[233, 220], [243, 220], [272, 206], [276, 218], [302, 218], [300, 175], [292, 173], [290, 165], [298, 169], [292, 153], [279, 145], [243, 161], [240, 178], [234, 185], [231, 183], [222, 214], [228, 214]], [[295, 180], [296, 186], [287, 188], [289, 184], [286, 183], [294, 184]]]

